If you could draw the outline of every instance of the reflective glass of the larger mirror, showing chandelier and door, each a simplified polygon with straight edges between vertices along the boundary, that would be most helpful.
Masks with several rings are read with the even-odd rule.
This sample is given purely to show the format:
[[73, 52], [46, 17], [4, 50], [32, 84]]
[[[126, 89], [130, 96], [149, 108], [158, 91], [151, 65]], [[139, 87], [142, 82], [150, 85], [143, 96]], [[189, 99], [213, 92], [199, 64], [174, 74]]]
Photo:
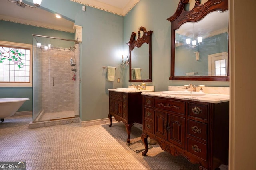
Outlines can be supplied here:
[[[198, 45], [197, 37], [202, 37]], [[186, 39], [196, 40], [196, 47]], [[208, 61], [209, 56], [226, 53], [226, 59]], [[198, 22], [186, 22], [175, 30], [175, 76], [227, 76], [228, 61], [228, 10], [211, 12]], [[209, 58], [210, 59], [210, 58]], [[217, 65], [215, 66], [215, 63]], [[223, 63], [224, 66], [223, 66]], [[212, 67], [213, 65], [213, 67]], [[212, 68], [209, 68], [212, 67]], [[216, 69], [215, 69], [216, 68]], [[215, 70], [215, 71], [214, 71]], [[222, 72], [220, 72], [222, 70]], [[224, 71], [225, 70], [225, 71]], [[216, 73], [215, 73], [216, 72]]]

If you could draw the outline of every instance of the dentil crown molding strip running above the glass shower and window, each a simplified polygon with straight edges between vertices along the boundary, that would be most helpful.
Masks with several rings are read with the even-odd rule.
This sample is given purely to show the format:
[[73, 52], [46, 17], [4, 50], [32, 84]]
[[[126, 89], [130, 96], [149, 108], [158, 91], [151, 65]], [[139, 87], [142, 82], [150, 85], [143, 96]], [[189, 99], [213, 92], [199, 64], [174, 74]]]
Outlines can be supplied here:
[[14, 18], [14, 17], [10, 17], [10, 16], [4, 16], [4, 15], [0, 15], [0, 20], [14, 22], [14, 23], [20, 23], [20, 24], [24, 24], [24, 25], [30, 25], [30, 26], [34, 26], [34, 27], [54, 29], [57, 31], [64, 31], [64, 32], [69, 32], [69, 33], [75, 32], [75, 30], [72, 28], [65, 28], [65, 27], [60, 27], [60, 26], [56, 26], [56, 25], [51, 25], [51, 24], [46, 24], [46, 23], [41, 23], [41, 22], [36, 22], [36, 21], [30, 21], [30, 20], [24, 20], [24, 19]]

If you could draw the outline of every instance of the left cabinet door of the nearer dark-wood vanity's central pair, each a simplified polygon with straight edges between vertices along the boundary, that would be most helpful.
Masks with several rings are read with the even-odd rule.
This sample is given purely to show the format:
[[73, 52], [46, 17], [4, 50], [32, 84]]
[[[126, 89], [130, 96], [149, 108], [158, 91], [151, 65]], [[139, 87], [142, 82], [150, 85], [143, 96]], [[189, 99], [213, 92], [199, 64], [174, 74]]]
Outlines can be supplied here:
[[155, 112], [155, 134], [167, 140], [167, 114]]

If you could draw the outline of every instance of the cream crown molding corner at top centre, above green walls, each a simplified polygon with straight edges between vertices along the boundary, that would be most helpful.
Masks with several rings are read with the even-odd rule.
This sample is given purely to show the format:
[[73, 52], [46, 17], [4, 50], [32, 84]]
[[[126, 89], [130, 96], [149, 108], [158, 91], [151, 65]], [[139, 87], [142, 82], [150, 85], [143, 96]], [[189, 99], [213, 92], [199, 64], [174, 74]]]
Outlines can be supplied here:
[[106, 12], [110, 12], [110, 13], [113, 13], [116, 15], [125, 16], [126, 14], [128, 14], [128, 12], [130, 12], [130, 10], [132, 10], [132, 8], [136, 4], [138, 4], [138, 2], [140, 0], [130, 0], [128, 2], [128, 4], [123, 9], [115, 7], [115, 6], [111, 6], [109, 4], [99, 2], [97, 0], [71, 0], [71, 1], [79, 3], [79, 4], [84, 4], [86, 6], [90, 6], [92, 8], [96, 8], [96, 9], [103, 10]]

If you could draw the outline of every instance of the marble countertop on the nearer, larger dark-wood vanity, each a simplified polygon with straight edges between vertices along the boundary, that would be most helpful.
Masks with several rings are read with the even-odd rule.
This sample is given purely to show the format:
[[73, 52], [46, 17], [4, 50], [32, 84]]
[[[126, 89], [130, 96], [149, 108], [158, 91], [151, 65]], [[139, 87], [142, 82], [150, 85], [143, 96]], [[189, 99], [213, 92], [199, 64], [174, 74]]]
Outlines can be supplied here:
[[182, 96], [182, 95], [164, 94], [162, 92], [143, 92], [142, 95], [183, 99], [183, 100], [191, 100], [191, 101], [198, 101], [198, 102], [208, 102], [208, 103], [222, 103], [222, 102], [229, 101], [229, 94], [206, 93], [203, 96], [186, 96], [186, 95]]

